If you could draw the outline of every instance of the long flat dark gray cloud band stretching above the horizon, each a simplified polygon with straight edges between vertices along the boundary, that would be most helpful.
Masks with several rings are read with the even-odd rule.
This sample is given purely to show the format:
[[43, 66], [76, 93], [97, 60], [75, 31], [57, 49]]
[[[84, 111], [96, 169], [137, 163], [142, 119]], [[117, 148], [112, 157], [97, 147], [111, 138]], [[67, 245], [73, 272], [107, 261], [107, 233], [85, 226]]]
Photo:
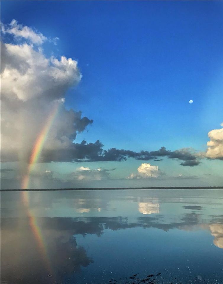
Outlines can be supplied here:
[[[140, 161], [156, 160], [157, 157], [167, 157], [169, 159], [178, 159], [184, 161], [182, 166], [198, 166], [198, 156], [192, 152], [192, 149], [183, 148], [180, 150], [170, 151], [161, 147], [157, 151], [140, 151], [111, 148], [103, 150], [103, 144], [97, 140], [95, 143], [87, 143], [83, 140], [81, 143], [73, 143], [68, 149], [59, 151], [48, 150], [43, 153], [44, 162], [50, 161], [75, 161], [75, 162], [98, 162], [98, 161], [126, 161], [127, 158], [134, 158]], [[159, 159], [158, 161], [161, 161]]]

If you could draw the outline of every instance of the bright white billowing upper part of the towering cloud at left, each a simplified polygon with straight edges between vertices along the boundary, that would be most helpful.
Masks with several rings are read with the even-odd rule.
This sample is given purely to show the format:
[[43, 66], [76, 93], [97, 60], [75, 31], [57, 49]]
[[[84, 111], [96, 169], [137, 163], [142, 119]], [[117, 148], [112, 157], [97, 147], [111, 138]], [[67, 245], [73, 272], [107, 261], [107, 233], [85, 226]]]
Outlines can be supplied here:
[[46, 58], [27, 43], [1, 45], [1, 93], [9, 100], [61, 98], [80, 79], [77, 61], [71, 58]]

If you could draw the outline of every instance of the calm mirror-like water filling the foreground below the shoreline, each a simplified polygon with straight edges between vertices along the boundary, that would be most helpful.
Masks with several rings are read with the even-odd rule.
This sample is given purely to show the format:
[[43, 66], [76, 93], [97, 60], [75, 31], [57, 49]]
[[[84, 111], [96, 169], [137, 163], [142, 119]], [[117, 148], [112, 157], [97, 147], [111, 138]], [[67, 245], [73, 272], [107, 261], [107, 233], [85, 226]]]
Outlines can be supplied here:
[[223, 190], [1, 192], [3, 283], [222, 284]]

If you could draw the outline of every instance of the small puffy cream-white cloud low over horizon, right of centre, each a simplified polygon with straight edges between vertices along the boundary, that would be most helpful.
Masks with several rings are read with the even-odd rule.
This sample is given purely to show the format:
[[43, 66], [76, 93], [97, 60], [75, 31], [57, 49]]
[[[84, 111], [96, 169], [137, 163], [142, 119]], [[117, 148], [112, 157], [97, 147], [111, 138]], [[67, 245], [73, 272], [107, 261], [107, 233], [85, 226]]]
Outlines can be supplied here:
[[130, 174], [127, 179], [141, 179], [141, 178], [151, 178], [151, 177], [159, 177], [161, 174], [158, 166], [152, 166], [149, 163], [142, 163], [138, 169], [138, 174]]

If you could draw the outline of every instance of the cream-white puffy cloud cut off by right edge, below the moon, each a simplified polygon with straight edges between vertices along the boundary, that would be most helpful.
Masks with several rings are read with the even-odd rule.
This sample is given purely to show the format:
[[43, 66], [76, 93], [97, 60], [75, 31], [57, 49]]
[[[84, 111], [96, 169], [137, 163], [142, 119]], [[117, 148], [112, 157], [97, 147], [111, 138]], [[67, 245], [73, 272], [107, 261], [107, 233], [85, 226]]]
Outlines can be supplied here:
[[206, 157], [223, 160], [223, 128], [209, 131], [208, 136], [210, 141], [207, 142]]

